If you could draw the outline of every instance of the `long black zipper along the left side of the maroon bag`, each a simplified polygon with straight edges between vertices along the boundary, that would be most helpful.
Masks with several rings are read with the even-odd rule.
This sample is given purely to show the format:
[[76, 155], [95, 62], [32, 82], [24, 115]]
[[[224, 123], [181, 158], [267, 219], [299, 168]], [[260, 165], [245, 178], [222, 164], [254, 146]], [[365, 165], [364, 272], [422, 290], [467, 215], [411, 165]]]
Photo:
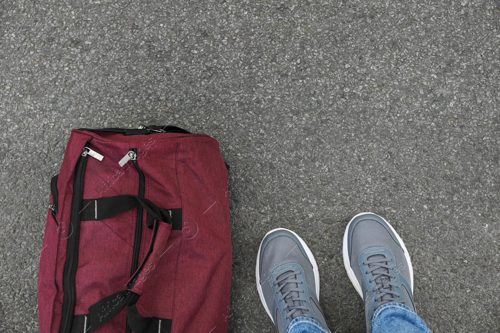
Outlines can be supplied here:
[[[88, 147], [85, 148], [88, 149]], [[73, 183], [73, 207], [70, 218], [69, 239], [67, 243], [66, 263], [64, 265], [64, 275], [62, 277], [62, 290], [64, 291], [62, 303], [62, 321], [61, 333], [69, 333], [70, 324], [72, 323], [72, 315], [74, 313], [75, 291], [74, 291], [74, 276], [76, 267], [78, 266], [78, 240], [80, 229], [80, 210], [83, 197], [83, 178], [85, 176], [85, 167], [87, 164], [88, 154], [84, 154], [86, 149], [83, 148], [81, 156], [78, 158], [76, 172]], [[76, 263], [76, 265], [75, 265]], [[68, 330], [69, 328], [69, 330]]]

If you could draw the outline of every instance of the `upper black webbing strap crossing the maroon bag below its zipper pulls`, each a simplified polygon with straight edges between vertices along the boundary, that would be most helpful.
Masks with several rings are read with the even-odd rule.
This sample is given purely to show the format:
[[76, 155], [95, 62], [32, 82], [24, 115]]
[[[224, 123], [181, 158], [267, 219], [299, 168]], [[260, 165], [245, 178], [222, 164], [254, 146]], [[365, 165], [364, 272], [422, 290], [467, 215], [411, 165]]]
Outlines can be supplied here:
[[139, 205], [147, 212], [146, 223], [149, 229], [152, 228], [154, 220], [166, 222], [173, 227], [172, 218], [167, 209], [158, 208], [151, 201], [131, 194], [96, 199], [83, 199], [83, 208], [79, 214], [81, 221], [100, 221], [126, 212]]

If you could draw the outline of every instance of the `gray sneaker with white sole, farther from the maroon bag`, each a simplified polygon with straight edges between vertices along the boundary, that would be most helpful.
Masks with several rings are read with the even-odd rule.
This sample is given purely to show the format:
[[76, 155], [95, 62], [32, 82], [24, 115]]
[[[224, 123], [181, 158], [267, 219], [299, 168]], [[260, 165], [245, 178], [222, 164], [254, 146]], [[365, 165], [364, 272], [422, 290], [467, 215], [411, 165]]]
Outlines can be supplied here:
[[345, 270], [364, 301], [366, 332], [373, 313], [387, 303], [401, 303], [413, 312], [413, 268], [403, 241], [392, 226], [373, 213], [357, 214], [345, 229]]

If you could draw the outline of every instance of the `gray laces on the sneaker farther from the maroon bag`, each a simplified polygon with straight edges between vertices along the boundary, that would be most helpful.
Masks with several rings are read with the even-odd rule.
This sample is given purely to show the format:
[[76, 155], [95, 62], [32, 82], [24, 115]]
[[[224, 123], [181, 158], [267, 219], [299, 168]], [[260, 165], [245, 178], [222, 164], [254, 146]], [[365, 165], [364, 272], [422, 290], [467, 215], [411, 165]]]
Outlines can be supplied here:
[[378, 301], [378, 303], [375, 305], [374, 310], [386, 303], [405, 303], [404, 301], [394, 298], [399, 297], [399, 295], [394, 291], [397, 285], [390, 281], [390, 279], [395, 278], [395, 276], [389, 272], [393, 270], [392, 267], [387, 265], [389, 261], [392, 261], [392, 259], [385, 258], [382, 255], [374, 255], [363, 263], [363, 265], [368, 266], [366, 274], [371, 273], [370, 282], [375, 281], [376, 283], [375, 287], [373, 287], [373, 291], [377, 292], [375, 301]]

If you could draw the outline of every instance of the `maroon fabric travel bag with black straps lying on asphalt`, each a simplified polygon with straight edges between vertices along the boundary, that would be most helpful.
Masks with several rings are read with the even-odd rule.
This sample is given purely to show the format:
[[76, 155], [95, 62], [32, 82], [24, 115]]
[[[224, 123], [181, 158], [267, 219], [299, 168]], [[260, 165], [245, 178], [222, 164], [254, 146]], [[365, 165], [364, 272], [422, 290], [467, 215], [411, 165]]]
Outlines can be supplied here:
[[215, 139], [174, 126], [72, 130], [50, 184], [40, 332], [227, 332], [227, 168]]

